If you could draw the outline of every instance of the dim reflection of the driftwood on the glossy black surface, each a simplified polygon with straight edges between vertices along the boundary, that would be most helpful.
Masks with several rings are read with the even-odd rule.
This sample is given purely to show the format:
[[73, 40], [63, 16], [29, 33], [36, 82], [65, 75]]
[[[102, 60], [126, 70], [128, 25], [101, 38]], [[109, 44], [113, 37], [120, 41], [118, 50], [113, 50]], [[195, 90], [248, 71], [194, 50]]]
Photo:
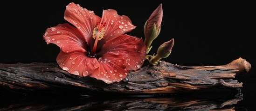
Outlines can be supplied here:
[[1, 96], [0, 111], [246, 111], [240, 91], [173, 95]]

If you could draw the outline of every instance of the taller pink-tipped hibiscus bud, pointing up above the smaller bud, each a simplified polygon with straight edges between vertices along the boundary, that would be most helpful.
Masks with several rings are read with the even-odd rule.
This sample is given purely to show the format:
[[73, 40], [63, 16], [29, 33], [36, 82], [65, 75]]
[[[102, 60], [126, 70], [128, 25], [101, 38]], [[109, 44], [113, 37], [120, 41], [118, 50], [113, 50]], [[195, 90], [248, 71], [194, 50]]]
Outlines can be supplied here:
[[149, 19], [144, 25], [145, 45], [146, 52], [149, 52], [152, 41], [158, 37], [161, 30], [161, 22], [163, 19], [163, 8], [160, 4], [154, 12], [150, 15]]

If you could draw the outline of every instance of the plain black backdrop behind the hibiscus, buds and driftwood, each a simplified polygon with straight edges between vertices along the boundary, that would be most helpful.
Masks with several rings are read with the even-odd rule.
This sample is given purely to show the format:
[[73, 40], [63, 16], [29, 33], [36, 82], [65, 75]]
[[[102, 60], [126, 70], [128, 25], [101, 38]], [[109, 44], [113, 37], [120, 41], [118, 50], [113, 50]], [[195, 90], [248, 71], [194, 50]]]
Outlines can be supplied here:
[[[138, 0], [137, 0], [138, 1]], [[162, 59], [184, 66], [224, 65], [239, 57], [251, 63], [248, 74], [236, 76], [243, 83], [238, 106], [253, 108], [255, 94], [255, 24], [252, 3], [241, 1], [173, 2], [98, 0], [32, 0], [1, 3], [0, 63], [55, 62], [59, 47], [43, 40], [48, 27], [64, 20], [69, 2], [80, 4], [101, 17], [104, 9], [127, 15], [137, 27], [127, 34], [144, 39], [143, 27], [151, 13], [163, 5], [161, 32], [149, 54], [174, 38], [171, 55]], [[252, 104], [250, 104], [252, 103]]]

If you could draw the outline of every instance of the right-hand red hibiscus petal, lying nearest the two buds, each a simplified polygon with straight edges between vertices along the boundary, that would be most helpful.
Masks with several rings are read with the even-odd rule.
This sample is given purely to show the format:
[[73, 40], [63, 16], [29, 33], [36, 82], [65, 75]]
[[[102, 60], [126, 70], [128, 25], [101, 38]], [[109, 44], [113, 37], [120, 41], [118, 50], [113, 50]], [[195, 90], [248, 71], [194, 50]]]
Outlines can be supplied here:
[[128, 70], [137, 70], [144, 63], [145, 49], [146, 46], [142, 39], [129, 35], [120, 35], [107, 41], [96, 56], [106, 55], [107, 53], [121, 55]]

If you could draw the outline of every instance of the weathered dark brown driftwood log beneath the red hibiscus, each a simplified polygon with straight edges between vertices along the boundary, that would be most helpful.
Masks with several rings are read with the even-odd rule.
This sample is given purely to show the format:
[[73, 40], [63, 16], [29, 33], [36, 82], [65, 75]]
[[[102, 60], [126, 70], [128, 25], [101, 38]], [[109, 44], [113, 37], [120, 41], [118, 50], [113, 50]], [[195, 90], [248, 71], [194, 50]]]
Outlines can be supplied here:
[[164, 94], [193, 92], [209, 88], [240, 89], [235, 74], [245, 74], [249, 62], [239, 58], [221, 66], [187, 67], [162, 61], [145, 66], [121, 82], [105, 84], [62, 70], [56, 63], [0, 64], [0, 89], [20, 93], [127, 93]]

